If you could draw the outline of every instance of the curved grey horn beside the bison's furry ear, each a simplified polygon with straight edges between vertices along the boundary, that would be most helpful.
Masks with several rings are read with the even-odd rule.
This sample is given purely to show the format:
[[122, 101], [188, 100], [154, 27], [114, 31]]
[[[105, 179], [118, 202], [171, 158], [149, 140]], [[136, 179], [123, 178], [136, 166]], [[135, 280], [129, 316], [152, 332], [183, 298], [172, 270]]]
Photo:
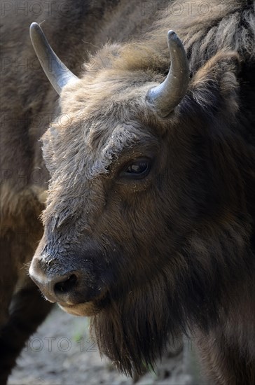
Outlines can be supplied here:
[[181, 102], [189, 80], [188, 59], [181, 40], [174, 31], [168, 31], [167, 39], [171, 58], [170, 71], [163, 83], [149, 90], [146, 96], [163, 118]]

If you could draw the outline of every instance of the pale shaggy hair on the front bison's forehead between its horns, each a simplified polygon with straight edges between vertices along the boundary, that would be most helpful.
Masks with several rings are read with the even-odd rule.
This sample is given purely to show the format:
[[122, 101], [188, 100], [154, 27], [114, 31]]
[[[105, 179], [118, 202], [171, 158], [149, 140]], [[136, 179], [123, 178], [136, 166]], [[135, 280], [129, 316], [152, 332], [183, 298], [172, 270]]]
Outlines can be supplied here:
[[[101, 69], [94, 75], [85, 73], [77, 83], [64, 87], [64, 116], [60, 115], [44, 134], [44, 146], [50, 142], [54, 151], [65, 149], [69, 158], [74, 157], [74, 151], [83, 151], [77, 160], [94, 158], [99, 164], [101, 158], [107, 167], [111, 153], [118, 155], [127, 146], [148, 140], [153, 123], [155, 134], [160, 132], [159, 118], [146, 102], [146, 92], [160, 80], [162, 76], [155, 78], [151, 72], [142, 78], [140, 71]], [[45, 157], [48, 163], [48, 148]]]

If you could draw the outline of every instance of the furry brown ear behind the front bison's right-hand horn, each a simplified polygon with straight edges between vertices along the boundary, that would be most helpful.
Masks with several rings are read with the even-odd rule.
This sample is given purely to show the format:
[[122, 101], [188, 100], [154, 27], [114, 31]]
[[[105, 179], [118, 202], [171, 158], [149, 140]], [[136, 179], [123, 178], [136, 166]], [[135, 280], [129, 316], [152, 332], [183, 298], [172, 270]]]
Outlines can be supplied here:
[[237, 52], [220, 51], [200, 67], [193, 76], [189, 90], [192, 99], [212, 114], [235, 116], [238, 110], [237, 73], [240, 67]]

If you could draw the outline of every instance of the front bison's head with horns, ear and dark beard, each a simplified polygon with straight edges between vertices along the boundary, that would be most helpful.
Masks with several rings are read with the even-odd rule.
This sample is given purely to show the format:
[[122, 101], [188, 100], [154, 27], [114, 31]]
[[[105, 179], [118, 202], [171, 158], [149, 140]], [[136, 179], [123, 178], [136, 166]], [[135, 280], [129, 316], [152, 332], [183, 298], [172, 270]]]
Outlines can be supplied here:
[[235, 55], [220, 52], [188, 86], [172, 32], [169, 46], [165, 81], [140, 56], [128, 62], [128, 45], [103, 48], [81, 79], [61, 62], [50, 75], [61, 113], [43, 135], [51, 179], [29, 272], [48, 300], [92, 316], [99, 348], [128, 373], [187, 323], [215, 321], [236, 275], [228, 255], [245, 244], [242, 183], [224, 174], [221, 141], [237, 109]]

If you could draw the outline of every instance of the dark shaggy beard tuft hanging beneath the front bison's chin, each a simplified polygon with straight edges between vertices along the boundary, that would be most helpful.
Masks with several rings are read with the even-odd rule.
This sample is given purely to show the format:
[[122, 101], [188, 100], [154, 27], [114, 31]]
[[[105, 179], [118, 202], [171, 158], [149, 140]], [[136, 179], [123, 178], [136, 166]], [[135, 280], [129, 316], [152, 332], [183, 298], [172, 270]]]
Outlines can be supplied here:
[[134, 371], [142, 374], [153, 367], [167, 342], [179, 335], [181, 312], [181, 305], [174, 306], [167, 290], [167, 279], [162, 277], [140, 290], [110, 297], [108, 306], [92, 317], [91, 330], [99, 351], [132, 376]]

